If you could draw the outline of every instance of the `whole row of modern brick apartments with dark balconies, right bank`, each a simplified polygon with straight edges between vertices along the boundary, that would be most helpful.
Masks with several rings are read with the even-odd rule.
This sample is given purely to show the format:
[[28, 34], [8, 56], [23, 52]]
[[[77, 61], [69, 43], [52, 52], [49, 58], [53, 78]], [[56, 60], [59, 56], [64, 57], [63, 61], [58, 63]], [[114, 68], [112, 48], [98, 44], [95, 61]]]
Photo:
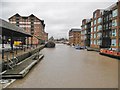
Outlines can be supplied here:
[[[82, 31], [81, 34], [86, 30], [87, 19], [82, 20]], [[120, 1], [111, 5], [106, 9], [97, 9], [93, 12], [93, 17], [89, 21], [91, 22], [91, 30], [88, 28], [90, 33], [90, 47], [94, 49], [100, 48], [120, 48]], [[85, 31], [86, 33], [87, 31]], [[81, 35], [81, 45], [86, 45], [85, 39], [86, 34]]]

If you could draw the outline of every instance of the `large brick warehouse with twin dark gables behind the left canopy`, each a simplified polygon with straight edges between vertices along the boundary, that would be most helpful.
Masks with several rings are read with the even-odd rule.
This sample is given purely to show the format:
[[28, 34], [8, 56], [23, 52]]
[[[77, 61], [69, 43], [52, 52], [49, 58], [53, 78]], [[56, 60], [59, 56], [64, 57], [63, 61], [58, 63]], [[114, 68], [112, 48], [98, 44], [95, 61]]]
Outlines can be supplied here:
[[[41, 42], [47, 40], [46, 35], [48, 34], [45, 35], [44, 21], [40, 20], [33, 14], [30, 16], [20, 16], [19, 14], [15, 14], [9, 18], [9, 22], [24, 28], [26, 32], [31, 33], [34, 36], [27, 40], [29, 44], [40, 44]], [[24, 43], [25, 42], [26, 41], [24, 40]]]

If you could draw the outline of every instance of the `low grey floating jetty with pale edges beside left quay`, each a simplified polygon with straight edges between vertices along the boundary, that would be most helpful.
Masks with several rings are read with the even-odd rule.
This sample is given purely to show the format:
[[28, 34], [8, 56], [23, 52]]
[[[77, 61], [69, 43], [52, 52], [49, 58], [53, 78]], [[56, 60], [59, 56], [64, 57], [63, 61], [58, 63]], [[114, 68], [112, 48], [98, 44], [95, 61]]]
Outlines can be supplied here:
[[42, 55], [40, 52], [34, 53], [26, 59], [22, 60], [21, 62], [17, 63], [13, 68], [0, 73], [0, 85], [2, 86], [2, 88], [6, 88], [16, 79], [25, 77], [28, 72], [33, 68], [33, 66], [36, 65], [39, 61], [41, 61], [43, 57], [44, 55]]

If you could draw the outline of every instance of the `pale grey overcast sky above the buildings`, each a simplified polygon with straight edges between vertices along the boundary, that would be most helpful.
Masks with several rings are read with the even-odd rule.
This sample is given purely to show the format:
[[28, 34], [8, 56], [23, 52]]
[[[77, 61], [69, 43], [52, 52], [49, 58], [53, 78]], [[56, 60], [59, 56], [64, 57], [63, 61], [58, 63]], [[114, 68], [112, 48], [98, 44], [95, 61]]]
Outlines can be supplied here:
[[92, 18], [96, 9], [105, 9], [118, 0], [2, 0], [0, 18], [16, 13], [21, 16], [34, 14], [45, 21], [45, 31], [55, 39], [68, 38], [71, 28], [81, 28], [83, 19]]

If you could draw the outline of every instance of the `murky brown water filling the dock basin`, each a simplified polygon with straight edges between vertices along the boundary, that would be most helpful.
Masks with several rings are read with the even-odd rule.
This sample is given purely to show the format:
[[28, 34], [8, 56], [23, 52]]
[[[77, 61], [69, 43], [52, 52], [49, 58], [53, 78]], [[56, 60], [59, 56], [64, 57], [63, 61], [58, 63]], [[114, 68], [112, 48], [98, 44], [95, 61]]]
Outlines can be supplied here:
[[117, 88], [118, 60], [58, 44], [30, 73], [9, 88]]

